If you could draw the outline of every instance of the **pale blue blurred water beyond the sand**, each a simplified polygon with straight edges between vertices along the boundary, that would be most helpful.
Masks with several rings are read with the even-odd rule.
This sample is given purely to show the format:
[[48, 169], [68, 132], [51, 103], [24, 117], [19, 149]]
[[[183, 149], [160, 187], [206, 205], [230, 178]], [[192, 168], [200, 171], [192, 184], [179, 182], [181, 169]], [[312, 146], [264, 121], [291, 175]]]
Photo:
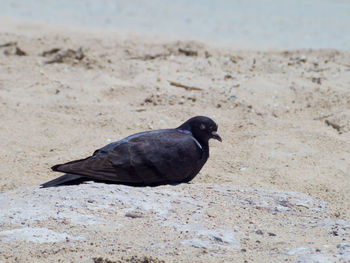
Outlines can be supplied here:
[[347, 0], [0, 0], [0, 16], [226, 41], [350, 50]]

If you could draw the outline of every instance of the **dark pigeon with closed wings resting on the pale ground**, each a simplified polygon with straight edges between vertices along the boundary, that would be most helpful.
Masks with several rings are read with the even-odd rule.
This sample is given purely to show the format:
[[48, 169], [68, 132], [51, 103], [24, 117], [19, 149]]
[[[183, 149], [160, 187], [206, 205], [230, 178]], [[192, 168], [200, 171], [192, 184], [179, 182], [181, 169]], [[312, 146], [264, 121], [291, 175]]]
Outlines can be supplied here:
[[41, 187], [86, 181], [158, 186], [191, 181], [209, 158], [209, 139], [222, 141], [217, 124], [193, 117], [175, 129], [152, 130], [110, 143], [85, 159], [54, 165], [65, 173]]

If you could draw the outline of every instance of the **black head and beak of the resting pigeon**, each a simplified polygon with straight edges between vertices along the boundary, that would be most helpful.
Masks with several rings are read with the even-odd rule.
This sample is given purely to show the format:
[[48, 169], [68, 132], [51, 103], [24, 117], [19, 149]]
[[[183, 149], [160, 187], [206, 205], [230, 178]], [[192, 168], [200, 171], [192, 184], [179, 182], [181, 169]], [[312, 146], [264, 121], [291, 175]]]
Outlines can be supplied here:
[[218, 125], [210, 118], [205, 116], [196, 116], [185, 123], [183, 123], [178, 129], [190, 131], [198, 141], [208, 142], [213, 138], [218, 141], [222, 141], [218, 134]]

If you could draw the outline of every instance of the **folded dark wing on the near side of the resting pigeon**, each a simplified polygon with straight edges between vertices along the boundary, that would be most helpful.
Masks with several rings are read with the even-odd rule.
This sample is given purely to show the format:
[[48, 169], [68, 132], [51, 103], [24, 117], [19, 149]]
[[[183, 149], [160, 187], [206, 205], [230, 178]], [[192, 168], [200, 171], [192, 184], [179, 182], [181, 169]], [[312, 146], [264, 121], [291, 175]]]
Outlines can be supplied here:
[[119, 183], [180, 182], [195, 170], [201, 149], [190, 135], [162, 130], [132, 135], [86, 159], [53, 167], [55, 171]]

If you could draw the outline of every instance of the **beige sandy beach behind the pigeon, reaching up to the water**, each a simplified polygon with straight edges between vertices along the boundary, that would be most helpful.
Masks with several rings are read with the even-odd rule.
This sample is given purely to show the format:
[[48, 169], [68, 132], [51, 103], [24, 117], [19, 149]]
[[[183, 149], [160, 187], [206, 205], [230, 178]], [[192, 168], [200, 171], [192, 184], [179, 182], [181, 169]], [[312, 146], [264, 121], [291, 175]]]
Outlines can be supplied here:
[[[324, 217], [350, 220], [350, 52], [247, 51], [35, 24], [0, 30], [2, 195], [37, 188], [58, 175], [52, 165], [110, 141], [207, 115], [223, 143], [211, 142], [191, 191], [295, 191], [326, 202]], [[249, 262], [261, 261], [264, 244], [249, 247]]]

